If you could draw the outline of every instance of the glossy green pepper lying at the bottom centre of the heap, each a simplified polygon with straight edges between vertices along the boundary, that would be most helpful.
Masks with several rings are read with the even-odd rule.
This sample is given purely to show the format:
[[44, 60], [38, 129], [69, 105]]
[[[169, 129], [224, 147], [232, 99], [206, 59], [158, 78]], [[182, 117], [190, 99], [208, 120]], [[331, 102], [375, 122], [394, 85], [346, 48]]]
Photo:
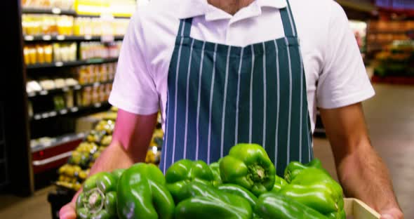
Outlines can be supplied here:
[[252, 208], [246, 199], [199, 182], [188, 183], [180, 192], [175, 219], [250, 219]]

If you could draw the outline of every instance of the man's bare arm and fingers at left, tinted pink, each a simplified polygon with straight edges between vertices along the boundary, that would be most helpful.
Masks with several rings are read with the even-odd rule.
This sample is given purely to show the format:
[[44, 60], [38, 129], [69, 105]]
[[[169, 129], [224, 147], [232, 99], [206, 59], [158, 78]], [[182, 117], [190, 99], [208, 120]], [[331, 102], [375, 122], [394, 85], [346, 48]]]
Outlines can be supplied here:
[[[157, 114], [141, 116], [118, 110], [111, 144], [105, 149], [91, 168], [90, 175], [145, 161], [149, 142], [154, 133]], [[62, 219], [76, 219], [76, 193], [69, 204], [59, 211]]]

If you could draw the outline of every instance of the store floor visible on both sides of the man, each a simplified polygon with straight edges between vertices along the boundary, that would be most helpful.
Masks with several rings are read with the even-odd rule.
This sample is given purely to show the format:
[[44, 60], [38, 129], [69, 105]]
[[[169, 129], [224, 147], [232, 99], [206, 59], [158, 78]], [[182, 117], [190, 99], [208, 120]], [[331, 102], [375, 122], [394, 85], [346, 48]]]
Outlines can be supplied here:
[[[377, 95], [364, 104], [373, 145], [391, 170], [394, 187], [406, 218], [414, 218], [414, 87], [375, 85]], [[316, 138], [316, 157], [335, 175], [328, 141]], [[0, 195], [0, 218], [51, 218], [47, 194], [52, 187], [28, 199]]]

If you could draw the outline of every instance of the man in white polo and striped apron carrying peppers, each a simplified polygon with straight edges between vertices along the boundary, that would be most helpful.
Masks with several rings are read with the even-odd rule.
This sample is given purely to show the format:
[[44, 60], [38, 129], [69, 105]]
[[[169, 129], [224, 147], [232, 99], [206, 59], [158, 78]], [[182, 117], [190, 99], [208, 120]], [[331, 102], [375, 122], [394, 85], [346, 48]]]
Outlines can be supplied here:
[[[313, 158], [319, 107], [346, 194], [403, 218], [364, 123], [361, 101], [373, 95], [335, 1], [153, 0], [123, 41], [109, 98], [119, 107], [113, 142], [91, 173], [144, 161], [161, 108], [162, 171], [254, 142], [280, 174]], [[74, 201], [60, 216], [74, 218]]]

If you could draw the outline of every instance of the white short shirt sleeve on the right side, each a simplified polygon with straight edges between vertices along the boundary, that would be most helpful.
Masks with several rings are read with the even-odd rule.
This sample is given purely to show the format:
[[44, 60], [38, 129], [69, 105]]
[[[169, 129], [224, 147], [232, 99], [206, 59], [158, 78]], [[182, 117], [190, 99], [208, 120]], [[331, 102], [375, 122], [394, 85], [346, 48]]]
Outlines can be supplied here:
[[317, 106], [345, 107], [375, 95], [345, 11], [333, 3], [323, 49], [323, 70], [316, 88]]

